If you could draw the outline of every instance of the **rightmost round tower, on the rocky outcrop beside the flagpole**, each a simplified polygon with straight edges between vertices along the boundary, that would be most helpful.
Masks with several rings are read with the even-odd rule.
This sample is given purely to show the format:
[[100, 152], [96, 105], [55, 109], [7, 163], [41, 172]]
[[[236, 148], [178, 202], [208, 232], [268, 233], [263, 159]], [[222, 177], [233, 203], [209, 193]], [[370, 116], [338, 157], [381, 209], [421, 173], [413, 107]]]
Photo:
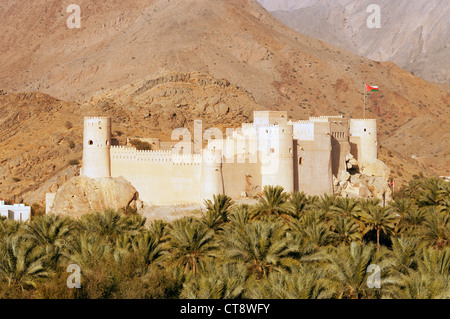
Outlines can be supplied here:
[[377, 120], [350, 119], [350, 141], [356, 145], [359, 162], [373, 163], [378, 159]]

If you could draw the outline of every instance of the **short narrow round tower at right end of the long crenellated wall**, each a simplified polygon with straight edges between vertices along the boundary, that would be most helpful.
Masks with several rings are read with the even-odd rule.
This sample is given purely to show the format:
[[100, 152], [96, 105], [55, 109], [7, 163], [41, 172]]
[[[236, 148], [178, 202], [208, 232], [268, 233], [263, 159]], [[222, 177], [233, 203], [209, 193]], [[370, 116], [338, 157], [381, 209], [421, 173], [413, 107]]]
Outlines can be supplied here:
[[204, 149], [202, 151], [201, 199], [213, 200], [213, 195], [224, 193], [222, 176], [222, 151]]

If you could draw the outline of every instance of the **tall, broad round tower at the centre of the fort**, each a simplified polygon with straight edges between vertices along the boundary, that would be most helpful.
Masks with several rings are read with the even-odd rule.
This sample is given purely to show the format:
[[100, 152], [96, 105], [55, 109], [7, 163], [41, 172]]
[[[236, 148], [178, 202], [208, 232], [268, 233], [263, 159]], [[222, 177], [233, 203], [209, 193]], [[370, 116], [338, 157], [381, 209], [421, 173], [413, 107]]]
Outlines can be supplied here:
[[259, 129], [262, 187], [282, 186], [294, 191], [294, 139], [292, 125]]

